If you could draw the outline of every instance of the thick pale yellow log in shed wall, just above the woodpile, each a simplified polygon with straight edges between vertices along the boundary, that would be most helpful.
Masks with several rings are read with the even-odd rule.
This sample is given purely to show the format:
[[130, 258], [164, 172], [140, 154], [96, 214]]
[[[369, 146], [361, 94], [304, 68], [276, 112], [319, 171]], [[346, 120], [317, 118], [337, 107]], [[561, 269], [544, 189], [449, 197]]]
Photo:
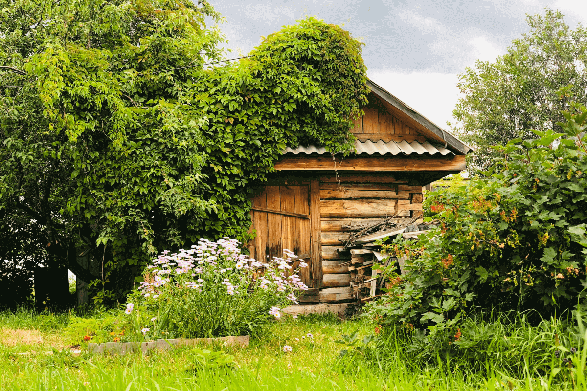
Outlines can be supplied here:
[[[321, 217], [386, 217], [395, 215], [399, 201], [410, 200], [321, 200]], [[416, 204], [413, 204], [416, 205]], [[410, 210], [410, 209], [408, 209]]]

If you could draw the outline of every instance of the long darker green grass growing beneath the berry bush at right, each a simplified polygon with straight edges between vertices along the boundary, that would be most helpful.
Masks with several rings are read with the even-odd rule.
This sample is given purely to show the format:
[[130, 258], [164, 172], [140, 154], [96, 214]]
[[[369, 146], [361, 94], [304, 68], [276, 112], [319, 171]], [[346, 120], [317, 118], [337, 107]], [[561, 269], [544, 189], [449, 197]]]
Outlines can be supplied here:
[[459, 327], [437, 324], [429, 332], [384, 328], [365, 359], [386, 365], [399, 356], [414, 368], [438, 365], [451, 373], [463, 370], [487, 378], [507, 373], [512, 381], [530, 376], [550, 386], [578, 379], [582, 384], [586, 336], [584, 314], [532, 324], [519, 312], [475, 312]]

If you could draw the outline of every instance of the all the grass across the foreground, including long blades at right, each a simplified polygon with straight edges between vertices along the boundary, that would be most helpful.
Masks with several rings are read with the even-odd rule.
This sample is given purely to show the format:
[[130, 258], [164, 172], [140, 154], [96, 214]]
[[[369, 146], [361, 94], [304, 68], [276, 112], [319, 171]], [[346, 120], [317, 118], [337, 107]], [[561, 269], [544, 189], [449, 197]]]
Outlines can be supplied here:
[[[32, 329], [46, 329], [45, 335], [59, 334], [66, 315], [45, 316], [56, 318], [51, 327], [35, 312], [0, 313], [0, 329], [28, 322], [27, 327]], [[394, 331], [370, 344], [364, 354], [340, 358], [343, 346], [335, 341], [341, 334], [356, 329], [360, 335], [372, 334], [374, 327], [367, 319], [340, 321], [332, 315], [275, 322], [247, 348], [213, 347], [233, 355], [237, 365], [195, 372], [197, 353], [193, 349], [146, 357], [109, 357], [69, 352], [18, 355], [22, 347], [0, 345], [0, 389], [587, 390], [585, 344], [573, 355], [572, 368], [561, 368], [553, 359], [553, 338], [558, 336], [558, 346], [569, 346], [575, 341], [573, 335], [581, 332], [572, 319], [548, 319], [531, 325], [524, 317], [487, 320], [479, 315], [467, 319], [463, 326], [463, 338], [475, 336], [471, 339], [475, 345], [448, 356], [423, 358], [413, 351], [413, 341], [407, 335]], [[308, 337], [302, 340], [308, 334], [313, 335], [313, 341]], [[496, 341], [500, 338], [507, 344]], [[284, 345], [294, 351], [285, 353]], [[50, 351], [50, 346], [35, 350]], [[556, 368], [561, 369], [556, 372]]]

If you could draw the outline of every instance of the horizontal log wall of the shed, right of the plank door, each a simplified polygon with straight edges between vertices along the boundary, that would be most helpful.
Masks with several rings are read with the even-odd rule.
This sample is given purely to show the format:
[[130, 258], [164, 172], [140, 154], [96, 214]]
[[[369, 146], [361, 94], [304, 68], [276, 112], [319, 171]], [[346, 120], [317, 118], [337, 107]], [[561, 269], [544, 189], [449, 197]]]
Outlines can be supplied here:
[[348, 266], [350, 252], [340, 252], [353, 225], [370, 225], [398, 215], [398, 222], [421, 216], [422, 187], [392, 175], [353, 172], [320, 178], [323, 287], [321, 302], [353, 301]]

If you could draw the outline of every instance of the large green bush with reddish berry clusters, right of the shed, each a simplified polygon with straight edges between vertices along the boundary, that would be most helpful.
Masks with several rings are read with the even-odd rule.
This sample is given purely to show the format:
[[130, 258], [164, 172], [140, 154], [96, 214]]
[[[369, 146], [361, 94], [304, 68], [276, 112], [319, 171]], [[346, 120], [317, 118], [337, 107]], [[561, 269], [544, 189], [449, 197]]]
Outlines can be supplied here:
[[391, 276], [371, 314], [433, 330], [456, 327], [471, 305], [550, 315], [578, 303], [587, 287], [587, 110], [565, 117], [565, 134], [509, 142], [491, 178], [431, 193], [441, 226], [386, 246], [409, 255], [407, 274]]

